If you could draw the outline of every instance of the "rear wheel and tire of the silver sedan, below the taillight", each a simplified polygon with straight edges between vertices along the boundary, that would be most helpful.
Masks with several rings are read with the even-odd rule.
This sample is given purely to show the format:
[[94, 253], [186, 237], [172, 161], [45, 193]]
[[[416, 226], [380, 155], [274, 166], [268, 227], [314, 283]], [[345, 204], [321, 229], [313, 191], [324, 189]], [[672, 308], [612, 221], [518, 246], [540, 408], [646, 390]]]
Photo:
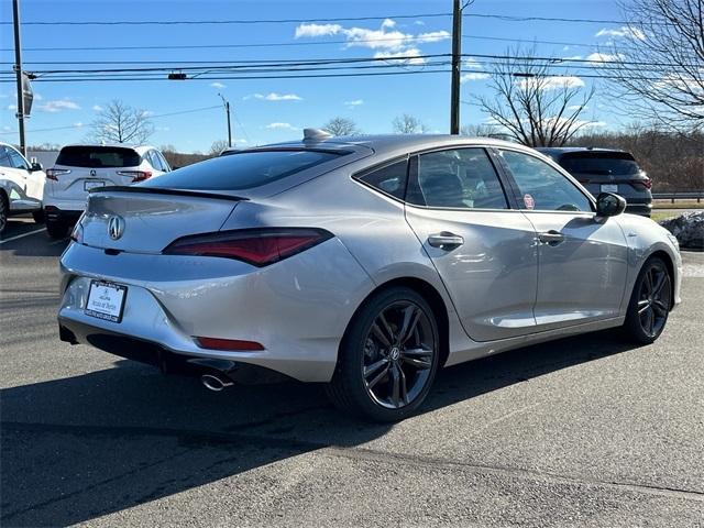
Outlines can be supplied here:
[[430, 305], [410, 288], [388, 288], [367, 299], [350, 322], [327, 394], [346, 413], [397, 421], [424, 403], [439, 362]]

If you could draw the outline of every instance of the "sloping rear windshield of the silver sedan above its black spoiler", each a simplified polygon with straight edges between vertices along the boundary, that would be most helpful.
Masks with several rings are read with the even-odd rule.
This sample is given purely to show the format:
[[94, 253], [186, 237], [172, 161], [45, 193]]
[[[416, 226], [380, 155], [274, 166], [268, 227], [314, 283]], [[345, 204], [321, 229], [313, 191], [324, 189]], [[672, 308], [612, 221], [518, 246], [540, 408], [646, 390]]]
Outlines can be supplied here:
[[346, 152], [250, 151], [196, 163], [141, 184], [199, 190], [250, 189], [334, 160]]

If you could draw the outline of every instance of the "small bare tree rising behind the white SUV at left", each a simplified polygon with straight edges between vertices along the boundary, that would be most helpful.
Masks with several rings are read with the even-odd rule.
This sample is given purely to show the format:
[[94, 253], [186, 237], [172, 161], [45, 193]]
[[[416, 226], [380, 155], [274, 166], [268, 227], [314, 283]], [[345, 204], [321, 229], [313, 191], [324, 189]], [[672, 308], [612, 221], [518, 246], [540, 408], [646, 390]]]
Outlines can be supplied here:
[[113, 99], [90, 124], [95, 140], [107, 143], [144, 143], [154, 125], [147, 112]]

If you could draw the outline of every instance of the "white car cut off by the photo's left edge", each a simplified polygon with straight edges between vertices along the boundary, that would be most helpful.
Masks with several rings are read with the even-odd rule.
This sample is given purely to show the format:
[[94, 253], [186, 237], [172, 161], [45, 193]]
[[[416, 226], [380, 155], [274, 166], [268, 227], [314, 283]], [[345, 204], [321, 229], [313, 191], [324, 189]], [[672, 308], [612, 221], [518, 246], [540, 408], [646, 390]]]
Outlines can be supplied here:
[[31, 164], [12, 145], [0, 143], [0, 233], [13, 215], [31, 212], [42, 222], [45, 180], [42, 165]]

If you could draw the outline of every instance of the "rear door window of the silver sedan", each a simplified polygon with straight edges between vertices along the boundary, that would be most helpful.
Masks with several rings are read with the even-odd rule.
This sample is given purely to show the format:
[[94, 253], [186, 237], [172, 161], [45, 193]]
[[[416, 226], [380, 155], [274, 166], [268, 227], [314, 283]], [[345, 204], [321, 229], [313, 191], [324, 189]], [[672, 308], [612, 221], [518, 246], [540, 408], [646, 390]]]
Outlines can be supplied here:
[[484, 148], [453, 148], [418, 156], [407, 201], [427, 207], [508, 209], [504, 189]]

